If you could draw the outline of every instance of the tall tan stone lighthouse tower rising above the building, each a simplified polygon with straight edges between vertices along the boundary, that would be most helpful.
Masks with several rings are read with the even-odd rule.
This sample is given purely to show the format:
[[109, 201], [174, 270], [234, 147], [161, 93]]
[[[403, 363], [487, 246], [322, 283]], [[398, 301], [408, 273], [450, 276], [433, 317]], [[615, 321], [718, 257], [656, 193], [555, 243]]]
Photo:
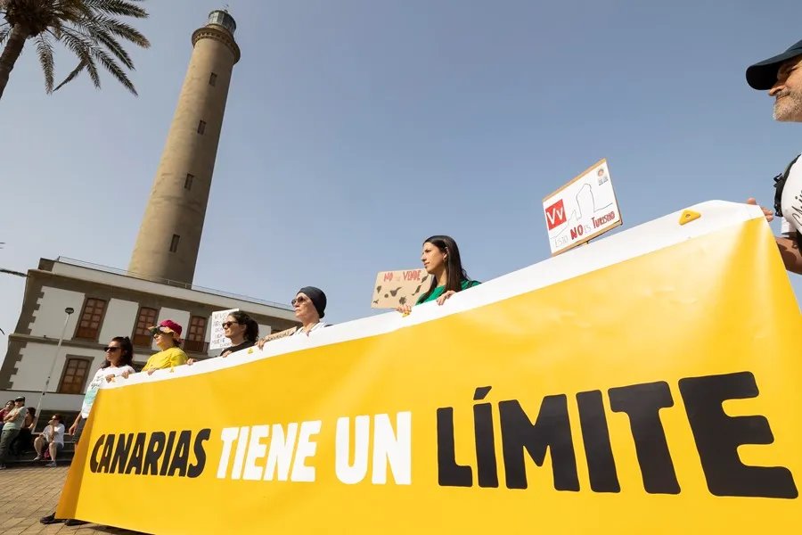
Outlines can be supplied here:
[[225, 100], [240, 47], [225, 10], [192, 33], [192, 58], [153, 180], [128, 270], [192, 284], [209, 202]]

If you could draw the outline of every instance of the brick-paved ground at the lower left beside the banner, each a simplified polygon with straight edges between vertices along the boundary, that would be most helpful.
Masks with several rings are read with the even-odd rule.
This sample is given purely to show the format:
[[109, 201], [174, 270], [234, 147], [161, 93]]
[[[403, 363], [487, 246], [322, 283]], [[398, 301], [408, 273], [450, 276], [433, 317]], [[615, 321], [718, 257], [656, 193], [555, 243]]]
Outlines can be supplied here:
[[96, 524], [70, 527], [63, 523], [51, 525], [39, 523], [39, 518], [55, 511], [61, 486], [67, 477], [67, 470], [67, 466], [0, 470], [0, 533], [3, 535], [135, 533]]

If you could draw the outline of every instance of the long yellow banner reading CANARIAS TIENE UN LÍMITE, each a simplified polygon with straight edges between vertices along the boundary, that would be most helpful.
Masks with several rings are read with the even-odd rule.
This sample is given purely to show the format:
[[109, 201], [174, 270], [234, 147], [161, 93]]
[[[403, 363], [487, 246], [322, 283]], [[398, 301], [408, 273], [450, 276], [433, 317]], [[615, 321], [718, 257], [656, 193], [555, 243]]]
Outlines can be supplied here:
[[802, 321], [765, 220], [514, 294], [643, 234], [317, 345], [104, 388], [58, 514], [194, 534], [795, 529]]

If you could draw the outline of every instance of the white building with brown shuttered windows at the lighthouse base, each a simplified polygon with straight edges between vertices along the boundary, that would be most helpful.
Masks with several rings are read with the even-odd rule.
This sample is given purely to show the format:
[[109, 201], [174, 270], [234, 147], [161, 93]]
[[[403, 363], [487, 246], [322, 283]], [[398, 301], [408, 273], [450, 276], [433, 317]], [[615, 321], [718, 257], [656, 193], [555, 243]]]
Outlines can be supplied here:
[[[74, 313], [68, 316], [67, 308]], [[299, 325], [289, 306], [191, 284], [161, 284], [74, 259], [40, 259], [28, 272], [20, 319], [8, 338], [0, 402], [21, 395], [26, 406], [36, 407], [53, 366], [42, 410], [74, 414], [110, 339], [131, 338], [139, 369], [158, 351], [147, 329], [163, 319], [184, 327], [182, 348], [190, 358], [217, 355], [220, 350], [209, 352], [211, 313], [225, 309], [247, 312], [258, 321], [261, 336]]]

